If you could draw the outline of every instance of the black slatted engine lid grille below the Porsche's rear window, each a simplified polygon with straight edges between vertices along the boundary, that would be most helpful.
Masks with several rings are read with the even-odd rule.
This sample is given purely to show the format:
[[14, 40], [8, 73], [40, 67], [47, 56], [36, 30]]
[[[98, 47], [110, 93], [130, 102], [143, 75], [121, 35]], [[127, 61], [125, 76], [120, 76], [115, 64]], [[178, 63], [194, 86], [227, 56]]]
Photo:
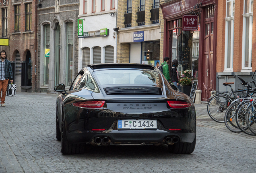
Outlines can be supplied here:
[[107, 95], [162, 95], [158, 87], [107, 87], [103, 88]]

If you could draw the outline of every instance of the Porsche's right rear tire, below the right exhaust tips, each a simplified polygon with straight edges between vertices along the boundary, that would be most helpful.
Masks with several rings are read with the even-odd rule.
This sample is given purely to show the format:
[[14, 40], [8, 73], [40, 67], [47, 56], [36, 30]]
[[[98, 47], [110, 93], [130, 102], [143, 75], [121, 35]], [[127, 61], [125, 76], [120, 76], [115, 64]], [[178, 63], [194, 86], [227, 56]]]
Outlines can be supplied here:
[[178, 142], [173, 145], [168, 145], [170, 153], [173, 154], [191, 154], [196, 147], [196, 137], [192, 143]]

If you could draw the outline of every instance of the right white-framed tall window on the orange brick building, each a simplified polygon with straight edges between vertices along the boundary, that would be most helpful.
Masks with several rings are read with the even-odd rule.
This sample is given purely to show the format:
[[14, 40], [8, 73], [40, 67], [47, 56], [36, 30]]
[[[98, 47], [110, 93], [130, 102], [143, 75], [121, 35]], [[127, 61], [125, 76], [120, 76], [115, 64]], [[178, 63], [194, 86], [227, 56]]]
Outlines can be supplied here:
[[253, 0], [244, 0], [242, 70], [252, 69]]

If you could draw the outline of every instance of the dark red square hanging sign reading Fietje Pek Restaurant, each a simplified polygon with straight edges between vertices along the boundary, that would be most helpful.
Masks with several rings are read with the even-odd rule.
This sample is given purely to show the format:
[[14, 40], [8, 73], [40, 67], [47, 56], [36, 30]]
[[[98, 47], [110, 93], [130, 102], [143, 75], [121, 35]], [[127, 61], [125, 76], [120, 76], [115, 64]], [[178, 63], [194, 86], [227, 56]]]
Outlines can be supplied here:
[[182, 30], [198, 30], [198, 16], [197, 15], [183, 15], [182, 16]]

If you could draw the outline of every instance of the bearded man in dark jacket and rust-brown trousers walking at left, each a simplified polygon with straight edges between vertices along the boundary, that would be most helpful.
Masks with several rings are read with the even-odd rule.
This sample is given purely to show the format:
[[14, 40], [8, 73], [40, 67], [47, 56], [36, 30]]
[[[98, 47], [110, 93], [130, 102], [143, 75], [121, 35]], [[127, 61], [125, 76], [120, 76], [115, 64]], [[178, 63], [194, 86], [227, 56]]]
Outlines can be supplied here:
[[[8, 86], [8, 81], [12, 83], [12, 66], [10, 61], [6, 59], [6, 53], [4, 50], [0, 52], [1, 60], [0, 60], [0, 100], [1, 106], [5, 107], [4, 101], [6, 96], [6, 90]], [[2, 90], [2, 97], [1, 97]]]

